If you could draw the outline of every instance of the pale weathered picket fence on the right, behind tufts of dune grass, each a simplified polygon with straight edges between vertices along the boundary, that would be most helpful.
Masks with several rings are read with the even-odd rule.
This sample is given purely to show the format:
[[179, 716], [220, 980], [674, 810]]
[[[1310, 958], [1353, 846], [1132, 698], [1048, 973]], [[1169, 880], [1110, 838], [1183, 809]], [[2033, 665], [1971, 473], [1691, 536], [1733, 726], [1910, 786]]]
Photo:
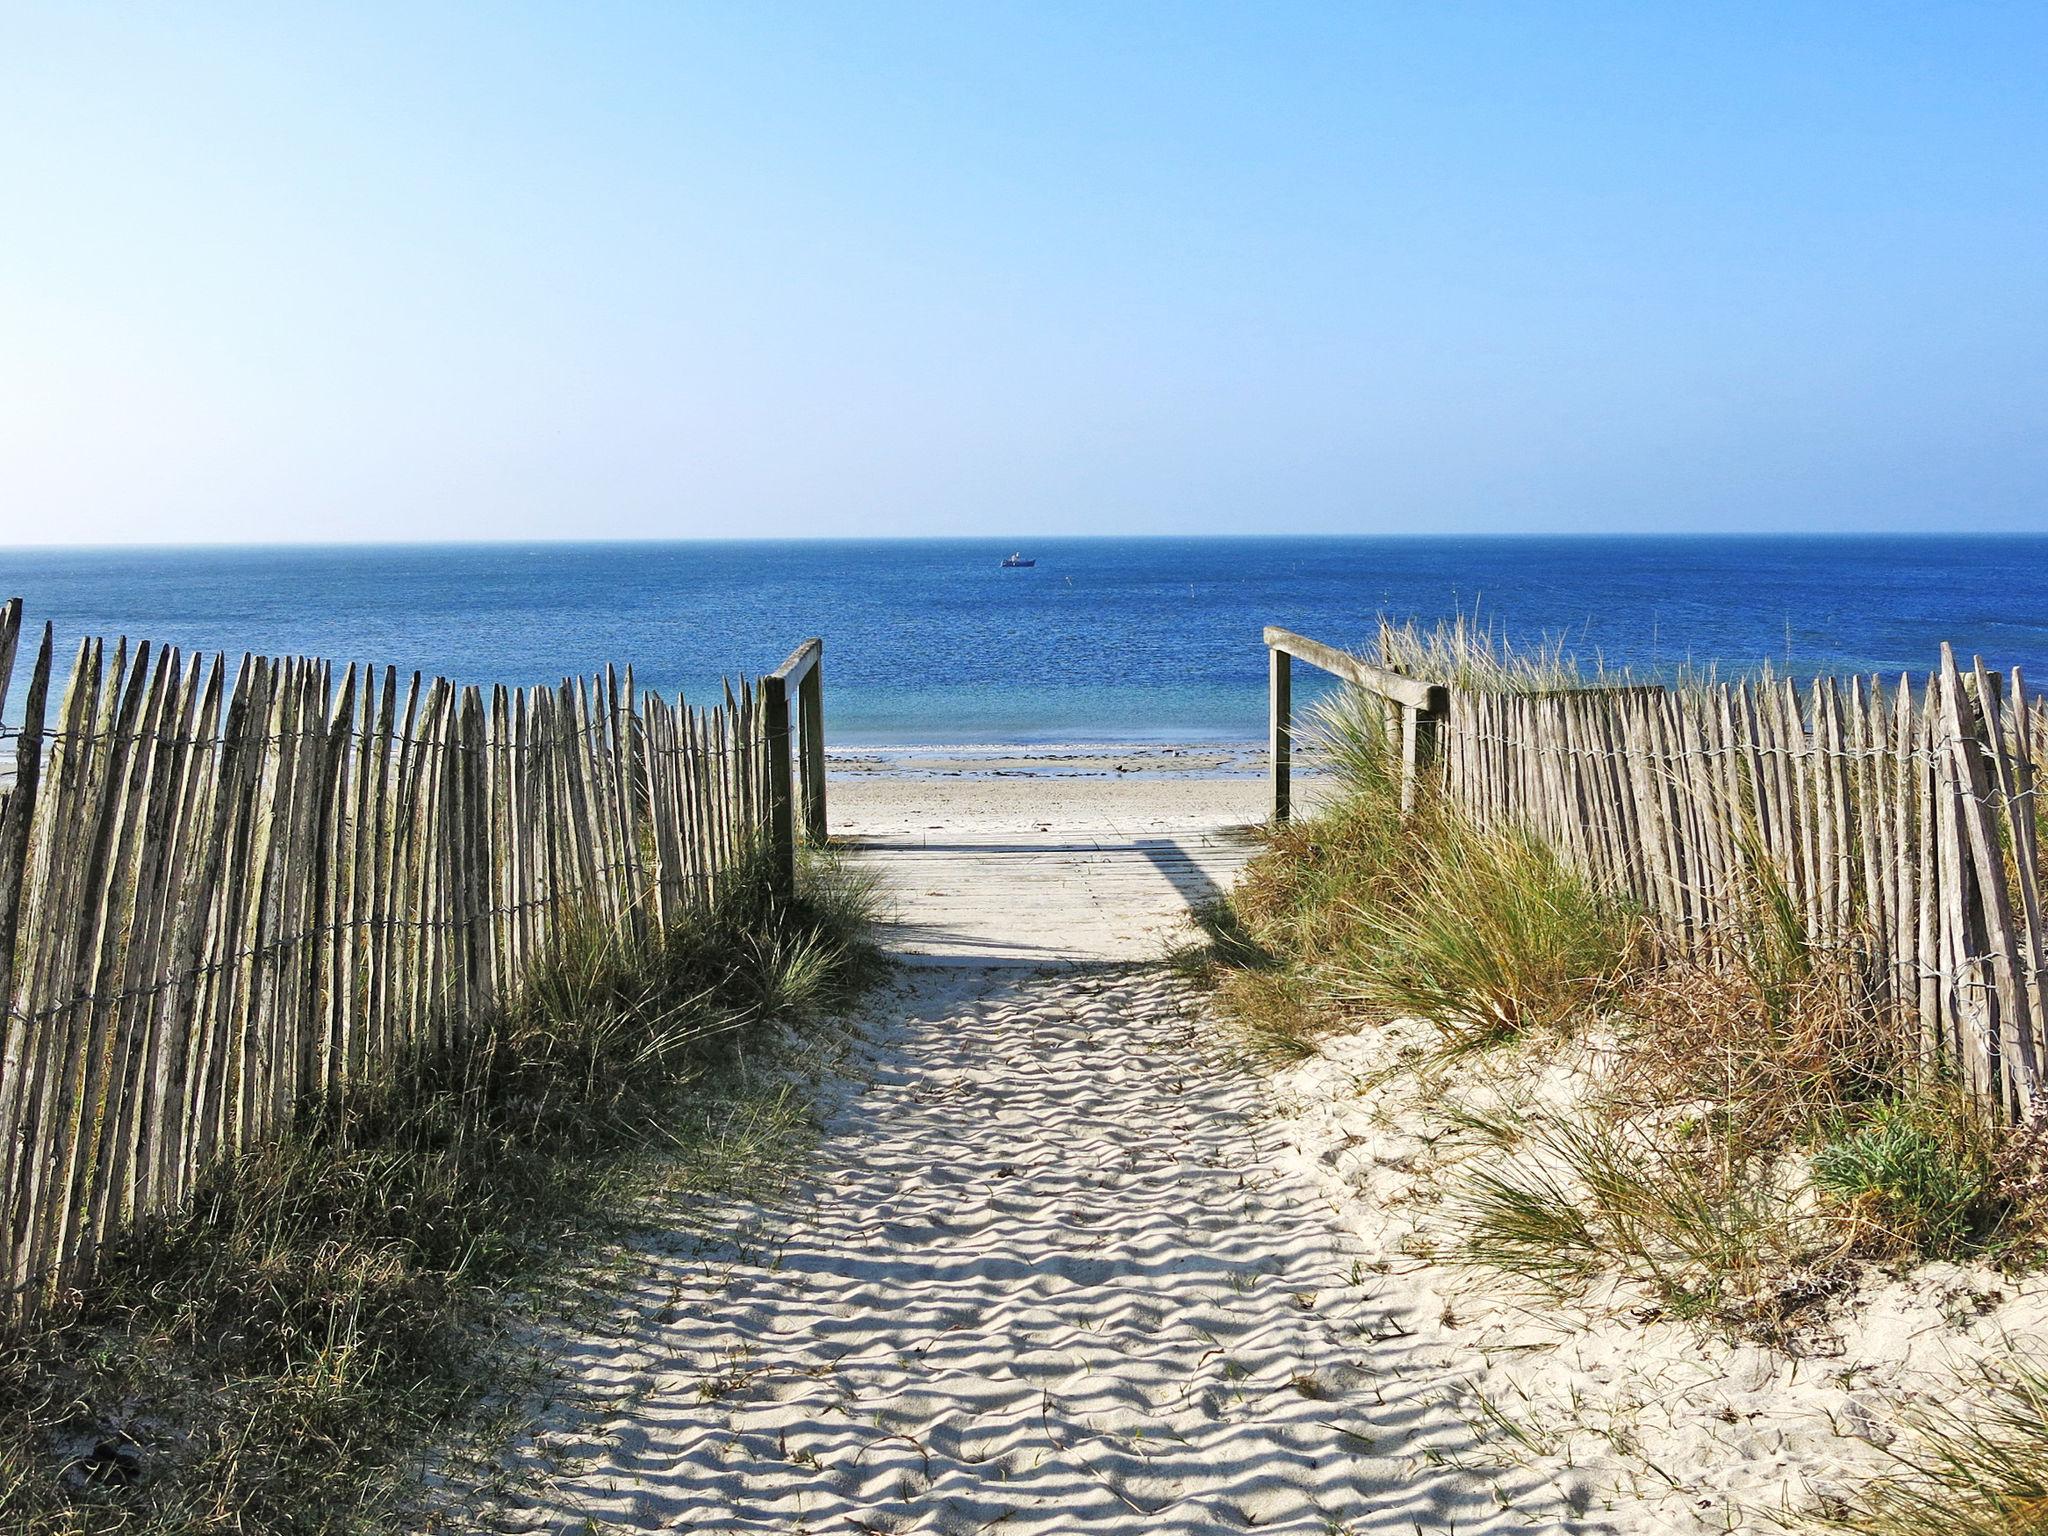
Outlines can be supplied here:
[[1554, 694], [1452, 688], [1450, 795], [1520, 821], [1679, 942], [1712, 942], [1769, 860], [1808, 942], [2007, 1116], [2042, 1108], [2048, 995], [2036, 772], [2019, 672]]

